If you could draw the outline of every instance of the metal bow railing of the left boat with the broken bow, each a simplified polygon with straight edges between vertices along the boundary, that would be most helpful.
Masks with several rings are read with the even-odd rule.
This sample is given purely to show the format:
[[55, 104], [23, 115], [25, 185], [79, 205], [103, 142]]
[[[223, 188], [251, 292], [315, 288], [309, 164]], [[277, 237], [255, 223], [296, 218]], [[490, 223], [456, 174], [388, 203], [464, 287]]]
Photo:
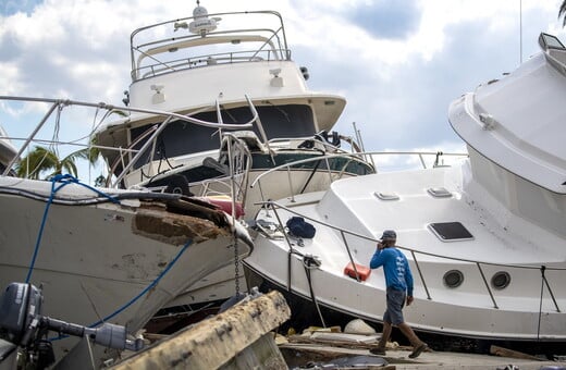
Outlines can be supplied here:
[[[251, 104], [251, 101], [248, 97], [246, 97], [249, 104]], [[110, 187], [118, 187], [125, 174], [131, 171], [134, 163], [136, 163], [142, 155], [149, 149], [149, 147], [153, 146], [155, 143], [157, 143], [157, 138], [159, 133], [161, 133], [168, 124], [170, 124], [174, 120], [180, 120], [183, 122], [188, 122], [195, 125], [201, 125], [206, 127], [217, 128], [219, 131], [223, 130], [242, 130], [242, 128], [250, 128], [253, 126], [251, 122], [257, 120], [257, 116], [253, 116], [249, 122], [243, 123], [243, 124], [224, 124], [224, 123], [216, 123], [216, 122], [207, 122], [201, 121], [198, 119], [195, 119], [189, 115], [183, 115], [177, 114], [173, 112], [167, 112], [167, 111], [160, 111], [160, 110], [151, 110], [151, 109], [140, 109], [135, 107], [115, 107], [112, 104], [107, 104], [104, 102], [85, 102], [85, 101], [76, 101], [76, 100], [70, 100], [70, 99], [49, 99], [49, 98], [33, 98], [33, 97], [12, 97], [12, 96], [0, 96], [0, 102], [3, 104], [8, 104], [10, 101], [16, 102], [16, 103], [28, 103], [28, 104], [37, 104], [37, 103], [44, 103], [48, 104], [47, 110], [40, 109], [41, 113], [39, 114], [39, 123], [35, 125], [35, 127], [32, 130], [32, 133], [25, 137], [16, 137], [16, 136], [1, 136], [1, 139], [9, 139], [13, 141], [23, 141], [23, 144], [20, 146], [20, 149], [17, 152], [14, 153], [13, 158], [5, 164], [5, 168], [2, 172], [2, 175], [8, 175], [11, 170], [19, 163], [19, 161], [22, 158], [22, 155], [29, 149], [32, 144], [42, 144], [48, 145], [50, 147], [53, 147], [56, 151], [59, 151], [60, 148], [63, 147], [78, 147], [81, 149], [96, 149], [96, 150], [115, 150], [121, 152], [120, 156], [121, 164], [123, 164], [123, 170], [120, 174], [116, 175], [116, 178], [113, 183], [108, 183], [107, 186]], [[217, 108], [219, 107], [218, 101], [214, 104]], [[93, 118], [93, 127], [91, 131], [84, 136], [81, 136], [78, 139], [70, 139], [70, 140], [62, 140], [59, 138], [61, 131], [61, 124], [63, 121], [63, 113], [66, 109], [70, 109], [70, 107], [79, 107], [79, 108], [86, 108], [86, 109], [94, 109], [94, 118]], [[37, 108], [34, 108], [37, 109]], [[101, 113], [103, 112], [103, 114]], [[135, 112], [135, 113], [143, 113], [143, 114], [151, 114], [156, 116], [161, 116], [163, 119], [163, 122], [159, 125], [155, 125], [155, 127], [150, 128], [145, 135], [146, 137], [149, 136], [142, 148], [134, 149], [133, 146], [130, 146], [128, 148], [122, 148], [122, 147], [109, 147], [109, 146], [101, 146], [97, 145], [93, 141], [93, 137], [96, 133], [96, 131], [104, 123], [107, 123], [108, 118], [111, 116], [113, 113], [119, 115], [125, 115], [125, 112]], [[41, 116], [42, 114], [42, 116]], [[77, 118], [76, 112], [69, 113], [70, 120], [72, 122], [76, 122]], [[85, 115], [81, 120], [89, 120], [90, 118]], [[42, 132], [46, 124], [48, 122], [51, 122], [53, 124], [52, 131], [49, 130], [50, 138], [45, 137], [38, 137], [38, 133]], [[87, 121], [88, 122], [88, 121]], [[73, 127], [76, 130], [76, 126]], [[65, 134], [73, 128], [65, 130]], [[8, 130], [8, 127], [4, 126], [4, 130]], [[45, 134], [44, 134], [45, 135]], [[124, 156], [133, 156], [130, 157], [128, 161], [124, 161]], [[29, 171], [28, 171], [29, 172]], [[29, 175], [29, 173], [27, 174]]]

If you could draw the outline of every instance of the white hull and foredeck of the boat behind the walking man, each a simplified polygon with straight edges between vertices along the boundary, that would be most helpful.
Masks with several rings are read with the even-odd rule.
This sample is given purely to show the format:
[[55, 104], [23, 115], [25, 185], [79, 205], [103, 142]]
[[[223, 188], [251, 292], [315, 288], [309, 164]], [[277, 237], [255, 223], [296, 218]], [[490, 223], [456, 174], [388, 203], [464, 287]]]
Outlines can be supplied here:
[[[353, 177], [333, 183], [328, 193], [298, 197], [294, 203], [281, 202], [306, 218], [341, 225], [367, 237], [345, 234], [353, 260], [366, 267], [382, 230], [395, 229], [398, 243], [409, 248], [404, 251], [415, 278], [415, 304], [405, 308], [405, 319], [418, 330], [497, 340], [566, 340], [566, 288], [562, 284], [566, 242], [514, 214], [507, 214], [507, 225], [499, 224], [485, 210], [499, 209], [493, 199], [490, 207], [479, 202], [479, 197], [470, 201], [466, 189], [478, 192], [479, 185], [463, 183], [463, 178], [468, 178], [466, 169], [464, 164]], [[450, 189], [452, 197], [435, 199], [426, 190], [440, 186]], [[374, 193], [396, 193], [401, 199], [380, 200]], [[279, 219], [284, 223], [291, 215], [282, 209], [276, 215], [272, 210], [263, 210], [258, 220], [276, 223]], [[443, 242], [428, 227], [432, 222], [452, 220], [463, 222], [473, 238]], [[380, 322], [385, 311], [382, 270], [373, 270], [364, 282], [345, 275], [350, 260], [344, 239], [337, 231], [315, 224], [317, 234], [312, 239], [304, 239], [304, 246], [290, 238], [291, 254], [281, 232], [258, 233], [255, 250], [244, 261], [246, 267], [293, 294], [310, 298], [304, 256], [317, 256], [321, 264], [310, 270], [317, 301]], [[531, 231], [537, 239], [507, 229], [516, 225]], [[546, 268], [545, 278], [554, 297], [549, 285], [544, 285], [541, 299], [541, 266]], [[460, 286], [450, 288], [444, 284], [443, 276], [451, 270], [463, 273]], [[510, 283], [502, 289], [490, 283], [500, 271], [510, 276]]]

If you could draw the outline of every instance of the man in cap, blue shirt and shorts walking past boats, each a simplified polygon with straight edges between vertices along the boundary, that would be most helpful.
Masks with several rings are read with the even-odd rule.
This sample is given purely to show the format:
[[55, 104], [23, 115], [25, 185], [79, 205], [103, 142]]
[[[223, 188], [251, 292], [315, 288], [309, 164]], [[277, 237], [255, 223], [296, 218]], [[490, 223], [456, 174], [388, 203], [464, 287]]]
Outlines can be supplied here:
[[370, 351], [374, 355], [385, 355], [387, 343], [393, 325], [409, 340], [413, 345], [410, 358], [418, 357], [427, 349], [427, 344], [419, 340], [417, 334], [403, 319], [403, 306], [413, 303], [413, 274], [405, 255], [395, 247], [397, 234], [393, 230], [385, 230], [378, 243], [376, 254], [369, 263], [371, 269], [383, 267], [385, 273], [385, 285], [387, 286], [387, 309], [383, 313], [383, 334], [378, 347]]

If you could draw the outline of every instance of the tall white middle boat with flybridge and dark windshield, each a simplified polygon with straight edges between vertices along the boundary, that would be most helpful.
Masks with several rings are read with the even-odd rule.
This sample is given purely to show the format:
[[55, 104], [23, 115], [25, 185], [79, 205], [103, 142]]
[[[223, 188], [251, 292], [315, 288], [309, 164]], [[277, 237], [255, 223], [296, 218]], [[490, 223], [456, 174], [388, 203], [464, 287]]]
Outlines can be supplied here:
[[[242, 176], [236, 193], [227, 193], [233, 175], [217, 126], [173, 118], [165, 127], [155, 114], [133, 112], [96, 133], [115, 176], [109, 183], [193, 194], [217, 203], [227, 195], [236, 202], [235, 217], [250, 218], [259, 201], [327, 189], [335, 178], [374, 172], [356, 140], [331, 132], [346, 100], [308, 88], [309, 72], [292, 60], [278, 12], [209, 14], [198, 4], [193, 16], [134, 30], [131, 55], [125, 102], [239, 127], [231, 135], [245, 146]], [[256, 182], [266, 171], [274, 173]], [[207, 278], [171, 306], [232, 296], [233, 278], [225, 275]]]

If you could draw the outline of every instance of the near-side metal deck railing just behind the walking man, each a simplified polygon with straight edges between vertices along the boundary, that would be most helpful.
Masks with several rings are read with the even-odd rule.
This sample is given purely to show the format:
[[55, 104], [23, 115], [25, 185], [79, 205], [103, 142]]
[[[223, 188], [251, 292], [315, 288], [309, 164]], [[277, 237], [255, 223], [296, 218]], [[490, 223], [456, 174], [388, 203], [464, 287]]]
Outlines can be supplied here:
[[[308, 222], [311, 222], [312, 224], [315, 224], [316, 227], [330, 229], [330, 230], [334, 231], [335, 233], [340, 234], [341, 239], [344, 245], [344, 249], [347, 252], [349, 262], [352, 263], [353, 269], [355, 271], [356, 280], [358, 282], [361, 282], [360, 274], [356, 267], [357, 261], [354, 260], [354, 257], [352, 254], [352, 246], [350, 246], [352, 242], [348, 243], [348, 238], [350, 240], [364, 240], [364, 243], [369, 243], [372, 245], [377, 245], [377, 243], [379, 242], [378, 238], [376, 238], [374, 236], [367, 236], [367, 235], [362, 235], [362, 234], [354, 232], [354, 231], [339, 227], [336, 225], [333, 225], [333, 224], [330, 224], [330, 223], [327, 223], [327, 222], [323, 222], [320, 220], [316, 220], [316, 219], [309, 217], [308, 214], [302, 214], [302, 213], [296, 212], [295, 210], [293, 210], [292, 206], [285, 207], [284, 205], [281, 205], [276, 201], [271, 201], [271, 200], [263, 201], [260, 203], [260, 206], [263, 209], [266, 209], [267, 212], [272, 211], [274, 213], [276, 222], [278, 222], [276, 229], [279, 231], [281, 231], [282, 234], [284, 235], [285, 243], [288, 248], [288, 258], [290, 259], [295, 254], [297, 254], [297, 255], [302, 255], [302, 254], [300, 254], [300, 250], [298, 250], [294, 247], [294, 243], [292, 243], [291, 236], [288, 235], [287, 232], [285, 232], [285, 224], [283, 223], [282, 215], [280, 214], [281, 210], [284, 212], [287, 212], [287, 214], [291, 214], [291, 215], [302, 217], [305, 220], [307, 220]], [[267, 236], [270, 237], [269, 235], [267, 235]], [[299, 243], [299, 245], [300, 245], [300, 243]], [[562, 309], [564, 309], [564, 307], [562, 307], [562, 309], [561, 309], [561, 307], [558, 305], [558, 299], [556, 297], [555, 289], [553, 289], [553, 286], [554, 286], [554, 288], [563, 286], [562, 281], [564, 278], [564, 272], [566, 272], [566, 268], [546, 266], [546, 264], [536, 266], [536, 264], [497, 263], [497, 262], [481, 261], [481, 260], [475, 260], [475, 259], [468, 259], [468, 258], [443, 256], [443, 255], [439, 255], [439, 254], [428, 252], [428, 251], [423, 251], [423, 250], [417, 250], [414, 248], [408, 248], [408, 247], [403, 247], [403, 246], [398, 246], [398, 248], [410, 254], [411, 259], [415, 263], [415, 267], [417, 268], [420, 281], [422, 283], [424, 294], [427, 296], [427, 299], [429, 299], [429, 300], [433, 300], [434, 297], [431, 294], [431, 291], [429, 288], [430, 284], [428, 283], [428, 280], [424, 276], [423, 270], [420, 266], [420, 263], [422, 262], [422, 260], [424, 258], [427, 258], [429, 260], [435, 259], [438, 261], [452, 261], [452, 262], [456, 262], [456, 263], [468, 263], [470, 266], [475, 266], [478, 269], [478, 273], [481, 278], [479, 280], [482, 285], [482, 287], [480, 287], [480, 289], [483, 289], [483, 292], [485, 292], [490, 296], [490, 299], [491, 299], [491, 303], [492, 303], [494, 309], [500, 309], [500, 305], [497, 305], [497, 301], [495, 299], [495, 295], [494, 295], [494, 291], [493, 291], [494, 288], [492, 286], [490, 286], [490, 283], [488, 282], [488, 279], [485, 278], [484, 270], [487, 268], [496, 268], [496, 269], [501, 269], [501, 270], [507, 269], [509, 271], [512, 271], [512, 270], [521, 270], [521, 271], [531, 271], [531, 272], [539, 271], [540, 272], [540, 283], [541, 283], [541, 285], [540, 285], [541, 295], [540, 295], [540, 300], [539, 300], [539, 307], [537, 307], [539, 309], [539, 313], [542, 313], [542, 307], [543, 307], [542, 304], [544, 301], [544, 299], [543, 299], [543, 288], [544, 287], [549, 292], [550, 301], [552, 303], [552, 307], [554, 307], [554, 310], [556, 312], [562, 312]], [[417, 256], [419, 256], [419, 257], [417, 257]], [[500, 271], [500, 272], [502, 272], [502, 271]], [[550, 273], [552, 273], [554, 275], [552, 281], [551, 281], [551, 279], [549, 279]], [[291, 286], [290, 285], [291, 284], [291, 271], [288, 271], [287, 279], [288, 279], [287, 286]], [[565, 297], [561, 296], [558, 298], [564, 300]], [[539, 328], [539, 330], [540, 330], [540, 328]], [[540, 333], [537, 333], [537, 334], [540, 334]]]

